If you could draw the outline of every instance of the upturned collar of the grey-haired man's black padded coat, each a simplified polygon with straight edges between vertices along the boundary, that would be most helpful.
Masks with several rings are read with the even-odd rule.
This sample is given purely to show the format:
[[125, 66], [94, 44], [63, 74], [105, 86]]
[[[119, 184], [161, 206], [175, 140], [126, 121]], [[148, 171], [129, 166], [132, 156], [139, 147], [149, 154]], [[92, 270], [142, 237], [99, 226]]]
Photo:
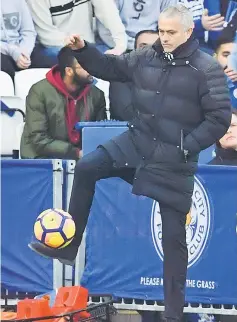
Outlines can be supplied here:
[[[160, 56], [164, 55], [164, 49], [159, 39], [154, 43], [152, 47]], [[194, 39], [194, 37], [191, 36], [184, 44], [180, 45], [172, 52], [174, 57], [173, 59], [176, 60], [188, 58], [198, 49], [198, 47], [198, 40]]]

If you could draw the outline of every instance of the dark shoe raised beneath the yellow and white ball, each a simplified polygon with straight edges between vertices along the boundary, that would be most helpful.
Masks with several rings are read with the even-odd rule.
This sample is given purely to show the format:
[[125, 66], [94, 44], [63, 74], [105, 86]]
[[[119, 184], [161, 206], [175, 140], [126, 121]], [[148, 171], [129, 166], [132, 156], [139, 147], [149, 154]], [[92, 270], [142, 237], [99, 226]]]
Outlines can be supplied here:
[[65, 248], [54, 249], [47, 247], [39, 242], [31, 242], [28, 247], [37, 254], [46, 258], [56, 258], [62, 264], [73, 266], [77, 256], [78, 247], [74, 245], [68, 245]]

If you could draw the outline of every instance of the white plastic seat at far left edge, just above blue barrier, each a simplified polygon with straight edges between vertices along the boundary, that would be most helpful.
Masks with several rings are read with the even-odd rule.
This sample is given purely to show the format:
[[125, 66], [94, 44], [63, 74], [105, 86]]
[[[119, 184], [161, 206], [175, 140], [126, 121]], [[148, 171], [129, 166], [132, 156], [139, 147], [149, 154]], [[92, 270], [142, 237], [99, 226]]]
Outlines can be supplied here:
[[[18, 158], [24, 127], [24, 101], [16, 96], [1, 97], [1, 156]], [[2, 106], [5, 107], [4, 111]], [[9, 108], [9, 110], [7, 110]], [[12, 112], [12, 113], [11, 113]]]

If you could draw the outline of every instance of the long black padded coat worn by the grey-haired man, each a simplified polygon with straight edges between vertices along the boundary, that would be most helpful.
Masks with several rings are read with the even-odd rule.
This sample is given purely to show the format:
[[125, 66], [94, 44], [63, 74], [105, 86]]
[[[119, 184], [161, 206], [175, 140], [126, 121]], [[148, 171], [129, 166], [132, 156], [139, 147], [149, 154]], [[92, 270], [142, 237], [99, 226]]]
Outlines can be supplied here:
[[159, 42], [121, 56], [102, 55], [88, 43], [75, 53], [92, 75], [133, 83], [137, 116], [128, 131], [103, 145], [114, 166], [136, 168], [133, 193], [188, 212], [198, 154], [227, 131], [231, 109], [222, 68], [196, 40], [173, 54], [167, 60]]

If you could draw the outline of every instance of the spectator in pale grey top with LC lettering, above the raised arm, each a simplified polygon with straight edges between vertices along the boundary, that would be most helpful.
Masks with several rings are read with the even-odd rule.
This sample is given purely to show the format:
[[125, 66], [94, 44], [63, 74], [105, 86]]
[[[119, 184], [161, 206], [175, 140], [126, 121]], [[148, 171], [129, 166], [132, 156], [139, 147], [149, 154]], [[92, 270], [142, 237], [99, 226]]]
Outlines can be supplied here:
[[[134, 49], [135, 36], [140, 30], [158, 31], [157, 18], [164, 9], [172, 6], [178, 0], [150, 0], [150, 1], [131, 1], [131, 0], [114, 0], [117, 4], [120, 17], [125, 25], [128, 36], [128, 48]], [[109, 47], [114, 46], [114, 40], [109, 30], [105, 29], [97, 20], [99, 37]]]

